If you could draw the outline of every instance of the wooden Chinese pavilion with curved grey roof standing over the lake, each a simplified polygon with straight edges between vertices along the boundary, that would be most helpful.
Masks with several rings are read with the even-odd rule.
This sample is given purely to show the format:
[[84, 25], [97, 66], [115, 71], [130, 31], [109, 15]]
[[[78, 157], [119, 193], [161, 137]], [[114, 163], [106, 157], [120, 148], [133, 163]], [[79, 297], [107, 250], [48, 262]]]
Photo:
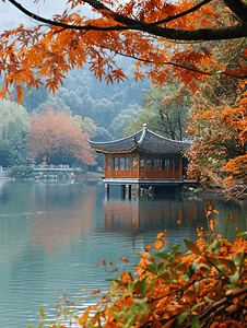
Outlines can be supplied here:
[[185, 180], [188, 181], [187, 159], [183, 152], [190, 147], [190, 141], [163, 138], [150, 131], [146, 125], [124, 139], [87, 141], [92, 150], [105, 154], [103, 181], [106, 184], [107, 195], [111, 184], [121, 185], [125, 197], [126, 186], [130, 190], [136, 185], [139, 190], [142, 186], [183, 186]]

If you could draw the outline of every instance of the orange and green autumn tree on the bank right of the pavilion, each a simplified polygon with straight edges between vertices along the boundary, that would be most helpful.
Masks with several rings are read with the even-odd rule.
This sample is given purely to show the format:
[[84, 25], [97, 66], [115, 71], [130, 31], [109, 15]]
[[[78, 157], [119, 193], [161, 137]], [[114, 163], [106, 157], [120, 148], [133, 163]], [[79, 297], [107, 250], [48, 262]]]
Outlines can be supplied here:
[[[246, 40], [215, 44], [214, 56], [222, 54], [222, 65], [236, 69], [240, 67], [245, 46]], [[187, 130], [192, 140], [187, 152], [188, 173], [201, 177], [205, 188], [239, 197], [246, 195], [245, 169], [239, 169], [246, 159], [245, 98], [245, 81], [239, 83], [234, 77], [217, 79], [214, 75], [192, 97]], [[230, 179], [231, 176], [234, 179]]]

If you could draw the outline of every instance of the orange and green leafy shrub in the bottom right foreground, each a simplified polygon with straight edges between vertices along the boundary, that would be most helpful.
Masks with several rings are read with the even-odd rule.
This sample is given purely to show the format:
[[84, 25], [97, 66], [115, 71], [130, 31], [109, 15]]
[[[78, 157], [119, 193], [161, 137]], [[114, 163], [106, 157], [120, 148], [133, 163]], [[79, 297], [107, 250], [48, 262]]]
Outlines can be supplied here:
[[95, 306], [74, 309], [66, 300], [49, 327], [70, 327], [73, 320], [79, 327], [105, 328], [246, 327], [247, 242], [230, 243], [216, 234], [208, 243], [185, 239], [189, 250], [183, 256], [180, 245], [165, 253], [165, 234], [157, 234], [155, 253], [146, 246], [133, 274], [124, 271], [111, 280]]

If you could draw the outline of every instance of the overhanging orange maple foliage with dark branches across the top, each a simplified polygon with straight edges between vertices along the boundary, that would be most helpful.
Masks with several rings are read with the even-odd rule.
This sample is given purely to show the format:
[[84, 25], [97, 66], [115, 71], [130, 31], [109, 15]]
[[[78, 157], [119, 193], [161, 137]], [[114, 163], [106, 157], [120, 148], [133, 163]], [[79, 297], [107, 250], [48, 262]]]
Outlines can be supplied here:
[[[99, 80], [122, 81], [126, 75], [116, 65], [116, 54], [137, 60], [137, 80], [148, 77], [164, 83], [167, 77], [176, 75], [191, 90], [215, 70], [223, 75], [246, 77], [245, 62], [234, 70], [222, 67], [207, 47], [209, 40], [247, 36], [247, 4], [242, 0], [69, 0], [69, 8], [50, 20], [15, 0], [8, 1], [37, 25], [21, 25], [0, 35], [0, 73], [4, 73], [1, 96], [14, 84], [22, 99], [21, 83], [38, 86], [42, 78], [55, 92], [68, 70], [81, 68], [86, 61]], [[84, 5], [96, 12], [96, 17], [84, 16]]]

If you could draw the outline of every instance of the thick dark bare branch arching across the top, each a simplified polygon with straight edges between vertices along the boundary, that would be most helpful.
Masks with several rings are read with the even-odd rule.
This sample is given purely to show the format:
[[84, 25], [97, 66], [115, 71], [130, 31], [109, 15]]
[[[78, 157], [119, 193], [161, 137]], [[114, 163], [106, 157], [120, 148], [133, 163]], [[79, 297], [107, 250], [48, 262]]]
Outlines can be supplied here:
[[[107, 10], [111, 17], [115, 20], [115, 22], [124, 24], [124, 25], [115, 25], [115, 26], [108, 26], [108, 27], [101, 27], [101, 26], [94, 26], [94, 25], [71, 25], [66, 24], [62, 22], [56, 22], [51, 20], [44, 19], [39, 15], [36, 15], [32, 13], [31, 11], [26, 10], [22, 4], [16, 2], [15, 0], [9, 0], [14, 7], [16, 7], [19, 10], [21, 10], [24, 14], [28, 15], [30, 17], [43, 22], [45, 24], [51, 25], [51, 26], [60, 26], [63, 28], [71, 28], [71, 30], [80, 30], [80, 31], [125, 31], [125, 30], [136, 30], [139, 32], [145, 32], [152, 35], [161, 36], [167, 39], [179, 39], [179, 40], [219, 40], [219, 39], [233, 39], [233, 38], [239, 38], [239, 37], [246, 37], [247, 36], [247, 28], [246, 28], [246, 20], [244, 17], [246, 16], [247, 7], [240, 0], [225, 0], [226, 5], [231, 8], [231, 10], [234, 11], [235, 14], [240, 14], [242, 23], [238, 23], [236, 25], [230, 26], [230, 27], [222, 27], [222, 28], [199, 28], [199, 30], [175, 30], [175, 28], [168, 28], [168, 27], [162, 27], [156, 26], [157, 23], [154, 23], [154, 25], [150, 25], [149, 23], [143, 23], [137, 20], [129, 19], [127, 16], [120, 15], [118, 13], [113, 12], [110, 9], [105, 7], [103, 3], [101, 3], [97, 0], [85, 0], [84, 2], [89, 3], [92, 8], [96, 9], [101, 12], [101, 10]], [[198, 5], [202, 5], [207, 2], [210, 2], [210, 0], [204, 0]], [[236, 9], [235, 3], [233, 2], [239, 2], [242, 3], [242, 8], [244, 13], [239, 13], [239, 10]], [[199, 8], [200, 8], [199, 7]], [[195, 7], [189, 12], [195, 11]], [[186, 11], [187, 12], [187, 11]], [[186, 12], [180, 13], [179, 15], [188, 14]], [[166, 20], [175, 20], [177, 15], [167, 17]]]

